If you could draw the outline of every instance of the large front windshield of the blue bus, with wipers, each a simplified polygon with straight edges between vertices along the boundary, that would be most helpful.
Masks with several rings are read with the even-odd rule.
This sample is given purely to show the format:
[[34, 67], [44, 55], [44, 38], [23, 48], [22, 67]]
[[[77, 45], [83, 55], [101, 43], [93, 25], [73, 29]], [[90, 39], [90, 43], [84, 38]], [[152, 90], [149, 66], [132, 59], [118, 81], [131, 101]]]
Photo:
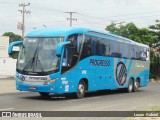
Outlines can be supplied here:
[[21, 46], [17, 70], [25, 72], [49, 72], [57, 70], [56, 46], [63, 37], [25, 38]]

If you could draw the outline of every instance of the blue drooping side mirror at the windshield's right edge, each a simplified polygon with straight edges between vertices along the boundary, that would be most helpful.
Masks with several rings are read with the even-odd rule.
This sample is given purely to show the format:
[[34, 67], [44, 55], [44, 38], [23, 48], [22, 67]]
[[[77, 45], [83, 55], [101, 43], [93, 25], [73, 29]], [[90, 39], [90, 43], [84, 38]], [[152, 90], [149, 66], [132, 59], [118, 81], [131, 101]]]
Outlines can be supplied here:
[[71, 43], [70, 41], [59, 43], [59, 44], [57, 45], [57, 48], [56, 48], [56, 55], [57, 55], [58, 57], [60, 57], [61, 54], [62, 54], [63, 47], [64, 47], [65, 45], [70, 44], [70, 43]]

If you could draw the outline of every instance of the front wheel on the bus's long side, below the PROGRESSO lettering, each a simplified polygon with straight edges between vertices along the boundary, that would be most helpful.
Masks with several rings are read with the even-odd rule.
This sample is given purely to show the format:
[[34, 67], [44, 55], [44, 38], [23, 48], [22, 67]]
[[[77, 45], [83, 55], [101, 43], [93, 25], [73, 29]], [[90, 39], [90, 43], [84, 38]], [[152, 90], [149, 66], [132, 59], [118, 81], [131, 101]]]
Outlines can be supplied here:
[[85, 91], [86, 91], [86, 84], [83, 80], [81, 80], [78, 84], [78, 89], [76, 92], [76, 97], [77, 98], [83, 98], [85, 95]]

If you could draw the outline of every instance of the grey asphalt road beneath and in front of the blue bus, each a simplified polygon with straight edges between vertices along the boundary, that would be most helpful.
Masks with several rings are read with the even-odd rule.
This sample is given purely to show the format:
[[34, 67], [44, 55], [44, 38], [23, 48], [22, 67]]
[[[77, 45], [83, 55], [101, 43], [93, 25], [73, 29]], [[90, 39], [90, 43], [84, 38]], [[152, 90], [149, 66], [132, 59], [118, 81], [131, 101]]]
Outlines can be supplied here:
[[90, 92], [83, 99], [63, 95], [44, 98], [32, 92], [0, 95], [0, 111], [143, 111], [155, 105], [160, 105], [160, 82], [149, 83], [133, 93]]

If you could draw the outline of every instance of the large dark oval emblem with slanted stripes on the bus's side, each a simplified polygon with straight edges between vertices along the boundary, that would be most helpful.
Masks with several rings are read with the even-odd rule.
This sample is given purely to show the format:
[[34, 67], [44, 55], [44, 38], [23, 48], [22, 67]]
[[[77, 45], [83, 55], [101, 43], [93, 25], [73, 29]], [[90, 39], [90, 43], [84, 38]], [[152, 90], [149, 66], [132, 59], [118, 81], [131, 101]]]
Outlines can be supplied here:
[[116, 67], [116, 81], [123, 86], [127, 80], [127, 69], [123, 62], [119, 62]]

